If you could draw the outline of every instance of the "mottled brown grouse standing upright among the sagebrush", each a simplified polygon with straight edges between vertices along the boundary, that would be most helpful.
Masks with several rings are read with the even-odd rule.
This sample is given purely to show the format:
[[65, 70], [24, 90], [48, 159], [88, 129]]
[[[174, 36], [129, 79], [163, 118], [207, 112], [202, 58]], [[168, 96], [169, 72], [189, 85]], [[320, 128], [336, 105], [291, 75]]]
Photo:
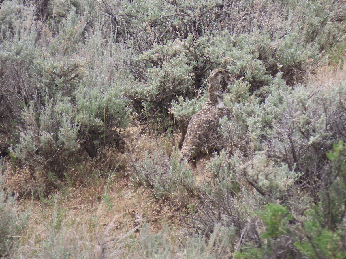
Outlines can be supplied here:
[[206, 105], [192, 116], [180, 151], [188, 162], [200, 159], [217, 149], [217, 128], [219, 119], [228, 113], [225, 108], [220, 81], [228, 71], [217, 68], [207, 79], [209, 97]]

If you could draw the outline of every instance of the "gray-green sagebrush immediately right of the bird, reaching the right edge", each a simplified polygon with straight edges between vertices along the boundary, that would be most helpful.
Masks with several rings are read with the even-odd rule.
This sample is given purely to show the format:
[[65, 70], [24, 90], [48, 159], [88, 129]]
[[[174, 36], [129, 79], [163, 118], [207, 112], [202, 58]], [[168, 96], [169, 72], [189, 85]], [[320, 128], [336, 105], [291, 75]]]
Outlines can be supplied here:
[[[266, 95], [264, 103], [261, 98], [248, 98], [246, 103], [233, 104], [233, 119], [220, 122], [225, 148], [233, 154], [236, 149], [251, 154], [252, 161], [272, 157], [264, 164], [282, 167], [284, 163], [297, 176], [321, 173], [322, 168], [316, 171], [325, 159], [320, 150], [328, 150], [345, 131], [345, 83], [292, 89], [278, 76]], [[258, 164], [262, 163], [254, 162]]]

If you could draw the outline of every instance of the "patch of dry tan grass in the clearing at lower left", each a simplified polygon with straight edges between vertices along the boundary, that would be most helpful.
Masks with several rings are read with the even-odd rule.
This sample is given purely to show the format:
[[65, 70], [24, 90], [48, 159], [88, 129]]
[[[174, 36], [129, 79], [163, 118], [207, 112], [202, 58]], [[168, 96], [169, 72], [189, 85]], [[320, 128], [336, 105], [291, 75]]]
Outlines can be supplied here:
[[[133, 253], [130, 250], [141, 237], [144, 220], [147, 233], [179, 223], [179, 205], [155, 201], [145, 188], [134, 189], [128, 177], [130, 161], [143, 159], [145, 151], [152, 152], [159, 145], [167, 152], [172, 150], [170, 139], [158, 140], [141, 131], [128, 128], [131, 134], [126, 137], [125, 153], [107, 147], [95, 160], [85, 156], [81, 167], [71, 168], [68, 181], [48, 196], [40, 196], [46, 190], [32, 180], [30, 171], [6, 161], [6, 187], [22, 194], [18, 207], [29, 216], [13, 257], [117, 258]], [[36, 191], [32, 196], [28, 190]]]

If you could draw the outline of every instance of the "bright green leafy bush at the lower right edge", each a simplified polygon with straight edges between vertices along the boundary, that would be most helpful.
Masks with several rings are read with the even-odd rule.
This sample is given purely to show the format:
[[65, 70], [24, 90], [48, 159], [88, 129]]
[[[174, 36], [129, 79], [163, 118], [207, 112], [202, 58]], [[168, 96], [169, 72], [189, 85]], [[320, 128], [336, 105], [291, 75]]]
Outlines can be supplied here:
[[345, 226], [345, 144], [339, 141], [327, 153], [330, 160], [329, 172], [321, 178], [318, 198], [320, 202], [306, 211], [301, 228], [306, 239], [295, 245], [308, 257], [343, 258]]

